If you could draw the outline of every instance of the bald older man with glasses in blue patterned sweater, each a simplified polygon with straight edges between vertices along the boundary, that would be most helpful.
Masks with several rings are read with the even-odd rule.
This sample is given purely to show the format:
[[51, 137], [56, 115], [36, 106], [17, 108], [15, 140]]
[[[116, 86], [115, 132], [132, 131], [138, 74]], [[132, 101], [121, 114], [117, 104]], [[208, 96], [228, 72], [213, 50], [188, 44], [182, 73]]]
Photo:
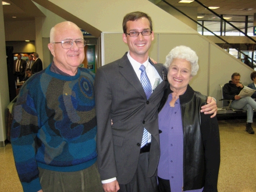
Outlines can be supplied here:
[[94, 74], [78, 68], [84, 46], [75, 24], [57, 24], [48, 44], [51, 65], [30, 77], [19, 92], [11, 142], [25, 192], [102, 191]]

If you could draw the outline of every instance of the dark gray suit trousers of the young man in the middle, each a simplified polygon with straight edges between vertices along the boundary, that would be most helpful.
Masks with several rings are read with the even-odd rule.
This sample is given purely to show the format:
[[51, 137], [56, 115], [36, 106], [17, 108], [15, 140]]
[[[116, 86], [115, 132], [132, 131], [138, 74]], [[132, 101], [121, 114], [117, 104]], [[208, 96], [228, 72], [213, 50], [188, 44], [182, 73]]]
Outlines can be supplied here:
[[130, 183], [119, 184], [118, 192], [157, 192], [157, 177], [148, 178], [148, 158], [150, 152], [142, 153], [139, 157], [136, 173]]

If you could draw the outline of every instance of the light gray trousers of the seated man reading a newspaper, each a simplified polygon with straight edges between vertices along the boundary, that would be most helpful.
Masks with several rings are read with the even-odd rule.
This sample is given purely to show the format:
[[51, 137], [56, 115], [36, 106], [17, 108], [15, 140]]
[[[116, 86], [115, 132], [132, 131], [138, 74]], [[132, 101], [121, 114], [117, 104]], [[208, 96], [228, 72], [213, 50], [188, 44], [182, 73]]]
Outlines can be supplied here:
[[252, 123], [253, 109], [256, 110], [256, 102], [251, 97], [243, 97], [238, 100], [234, 100], [230, 104], [231, 108], [243, 109], [247, 112], [247, 123]]

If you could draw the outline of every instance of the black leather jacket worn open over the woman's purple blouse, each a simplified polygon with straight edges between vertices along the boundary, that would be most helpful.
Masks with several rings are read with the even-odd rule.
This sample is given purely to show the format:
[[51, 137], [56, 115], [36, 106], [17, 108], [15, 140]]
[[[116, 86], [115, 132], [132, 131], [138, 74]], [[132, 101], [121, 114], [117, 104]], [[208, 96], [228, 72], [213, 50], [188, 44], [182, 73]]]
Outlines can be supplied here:
[[[160, 102], [159, 112], [172, 92], [168, 86]], [[184, 134], [183, 190], [204, 187], [204, 192], [218, 191], [220, 135], [217, 117], [210, 118], [210, 115], [200, 113], [207, 97], [195, 92], [189, 85], [179, 98]]]

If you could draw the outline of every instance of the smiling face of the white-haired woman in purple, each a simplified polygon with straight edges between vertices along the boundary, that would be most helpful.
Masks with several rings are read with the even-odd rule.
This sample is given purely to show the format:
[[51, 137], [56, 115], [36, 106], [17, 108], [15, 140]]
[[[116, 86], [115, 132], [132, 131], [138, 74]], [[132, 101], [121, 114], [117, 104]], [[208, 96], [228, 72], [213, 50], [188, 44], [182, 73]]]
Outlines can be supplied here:
[[175, 93], [185, 92], [191, 80], [191, 65], [186, 59], [175, 58], [168, 69], [170, 89]]

